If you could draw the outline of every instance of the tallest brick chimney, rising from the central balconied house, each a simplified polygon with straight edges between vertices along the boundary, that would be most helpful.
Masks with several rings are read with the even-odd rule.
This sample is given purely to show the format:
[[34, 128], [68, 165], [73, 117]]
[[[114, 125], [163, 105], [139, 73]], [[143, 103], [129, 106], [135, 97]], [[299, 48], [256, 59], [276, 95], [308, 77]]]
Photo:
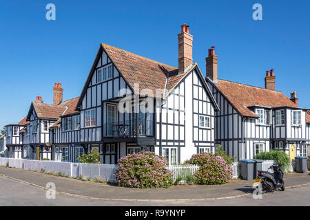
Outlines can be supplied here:
[[193, 38], [189, 34], [189, 26], [183, 23], [181, 33], [178, 34], [178, 73], [183, 73], [185, 69], [193, 63]]

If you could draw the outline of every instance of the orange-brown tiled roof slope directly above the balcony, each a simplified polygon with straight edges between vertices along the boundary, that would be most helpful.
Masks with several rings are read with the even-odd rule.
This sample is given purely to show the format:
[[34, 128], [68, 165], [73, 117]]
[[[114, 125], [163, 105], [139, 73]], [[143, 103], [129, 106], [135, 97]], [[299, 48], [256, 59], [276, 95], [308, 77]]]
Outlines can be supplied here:
[[178, 71], [176, 67], [104, 43], [101, 45], [132, 89], [135, 83], [139, 83], [140, 91], [142, 89], [151, 89], [154, 96], [156, 96], [156, 89], [165, 89], [167, 74]]

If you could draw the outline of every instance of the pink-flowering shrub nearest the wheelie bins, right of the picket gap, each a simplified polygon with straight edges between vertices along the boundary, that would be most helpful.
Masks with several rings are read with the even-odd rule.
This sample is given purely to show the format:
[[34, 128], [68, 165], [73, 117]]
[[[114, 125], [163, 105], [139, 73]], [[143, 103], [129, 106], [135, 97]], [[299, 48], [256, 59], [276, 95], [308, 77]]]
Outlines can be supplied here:
[[226, 184], [233, 177], [232, 165], [227, 164], [223, 157], [211, 153], [193, 155], [186, 163], [200, 166], [193, 176], [196, 184]]

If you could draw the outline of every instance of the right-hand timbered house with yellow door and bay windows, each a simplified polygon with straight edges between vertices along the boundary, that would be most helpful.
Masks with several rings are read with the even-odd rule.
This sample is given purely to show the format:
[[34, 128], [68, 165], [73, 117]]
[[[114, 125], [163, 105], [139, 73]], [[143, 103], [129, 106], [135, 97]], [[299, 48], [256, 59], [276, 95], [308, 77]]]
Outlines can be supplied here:
[[251, 159], [271, 149], [285, 151], [291, 158], [307, 155], [309, 111], [298, 107], [296, 92], [287, 98], [276, 91], [273, 69], [267, 71], [265, 88], [219, 79], [217, 61], [211, 47], [205, 80], [220, 107], [216, 112], [216, 143], [236, 159]]

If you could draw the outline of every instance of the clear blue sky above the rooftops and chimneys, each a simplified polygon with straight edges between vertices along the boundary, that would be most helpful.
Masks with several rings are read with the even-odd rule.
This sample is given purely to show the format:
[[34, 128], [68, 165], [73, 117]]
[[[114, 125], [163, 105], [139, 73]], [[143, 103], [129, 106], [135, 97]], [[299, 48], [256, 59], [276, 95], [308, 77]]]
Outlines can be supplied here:
[[[56, 5], [56, 21], [45, 5]], [[252, 19], [254, 3], [262, 21]], [[180, 25], [190, 25], [193, 57], [205, 74], [216, 46], [218, 78], [264, 87], [275, 69], [276, 90], [297, 91], [310, 108], [310, 1], [1, 1], [0, 128], [17, 123], [42, 96], [52, 103], [54, 83], [64, 99], [77, 97], [99, 49], [107, 43], [178, 66]]]

